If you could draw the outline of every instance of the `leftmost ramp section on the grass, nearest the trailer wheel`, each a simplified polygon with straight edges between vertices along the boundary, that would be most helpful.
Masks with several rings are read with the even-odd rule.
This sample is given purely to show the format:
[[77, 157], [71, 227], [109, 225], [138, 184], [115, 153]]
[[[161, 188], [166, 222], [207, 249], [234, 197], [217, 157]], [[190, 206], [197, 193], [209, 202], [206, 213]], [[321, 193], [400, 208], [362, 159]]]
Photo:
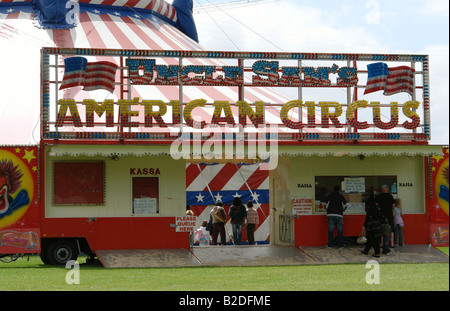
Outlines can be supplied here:
[[97, 250], [105, 268], [196, 267], [201, 262], [188, 249]]

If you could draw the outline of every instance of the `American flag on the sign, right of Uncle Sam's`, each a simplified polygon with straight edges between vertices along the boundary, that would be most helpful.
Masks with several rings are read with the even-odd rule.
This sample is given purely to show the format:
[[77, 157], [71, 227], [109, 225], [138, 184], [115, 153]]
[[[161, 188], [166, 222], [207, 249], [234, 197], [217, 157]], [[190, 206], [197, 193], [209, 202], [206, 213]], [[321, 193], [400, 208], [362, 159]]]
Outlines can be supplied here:
[[367, 65], [367, 84], [365, 94], [384, 91], [384, 95], [394, 95], [400, 92], [414, 93], [415, 70], [408, 66], [389, 68], [385, 63]]

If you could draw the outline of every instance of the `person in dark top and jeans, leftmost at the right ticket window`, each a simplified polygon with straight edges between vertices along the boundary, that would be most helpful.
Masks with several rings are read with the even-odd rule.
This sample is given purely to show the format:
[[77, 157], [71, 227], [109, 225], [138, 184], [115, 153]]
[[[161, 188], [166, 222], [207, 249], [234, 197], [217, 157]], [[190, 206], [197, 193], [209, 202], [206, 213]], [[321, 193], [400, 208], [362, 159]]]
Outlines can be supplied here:
[[340, 193], [341, 188], [334, 186], [334, 190], [327, 196], [327, 219], [328, 219], [328, 244], [327, 248], [333, 247], [334, 228], [338, 232], [338, 247], [344, 248], [344, 211], [347, 206], [345, 198]]

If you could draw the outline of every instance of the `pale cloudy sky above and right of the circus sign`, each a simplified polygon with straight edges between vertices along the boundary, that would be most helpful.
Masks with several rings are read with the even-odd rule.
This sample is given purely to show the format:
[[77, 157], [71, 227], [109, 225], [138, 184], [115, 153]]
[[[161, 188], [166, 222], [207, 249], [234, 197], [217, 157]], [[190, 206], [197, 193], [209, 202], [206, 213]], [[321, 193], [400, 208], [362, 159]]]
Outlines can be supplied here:
[[210, 50], [429, 55], [430, 143], [448, 145], [448, 0], [234, 0], [234, 9], [207, 13], [199, 9], [233, 1], [193, 1], [200, 44]]

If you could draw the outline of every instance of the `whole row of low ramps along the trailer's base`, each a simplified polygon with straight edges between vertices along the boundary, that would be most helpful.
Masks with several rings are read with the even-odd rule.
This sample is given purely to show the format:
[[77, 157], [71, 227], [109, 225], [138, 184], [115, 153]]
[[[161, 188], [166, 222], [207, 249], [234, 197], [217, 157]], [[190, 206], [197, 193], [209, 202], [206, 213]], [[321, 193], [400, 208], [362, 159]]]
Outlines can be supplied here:
[[[192, 249], [101, 250], [97, 257], [106, 268], [198, 266], [295, 266], [307, 264], [366, 264], [372, 256], [361, 255], [361, 245], [344, 249], [325, 246], [206, 246]], [[395, 247], [382, 256], [383, 263], [448, 263], [448, 256], [429, 245]]]

